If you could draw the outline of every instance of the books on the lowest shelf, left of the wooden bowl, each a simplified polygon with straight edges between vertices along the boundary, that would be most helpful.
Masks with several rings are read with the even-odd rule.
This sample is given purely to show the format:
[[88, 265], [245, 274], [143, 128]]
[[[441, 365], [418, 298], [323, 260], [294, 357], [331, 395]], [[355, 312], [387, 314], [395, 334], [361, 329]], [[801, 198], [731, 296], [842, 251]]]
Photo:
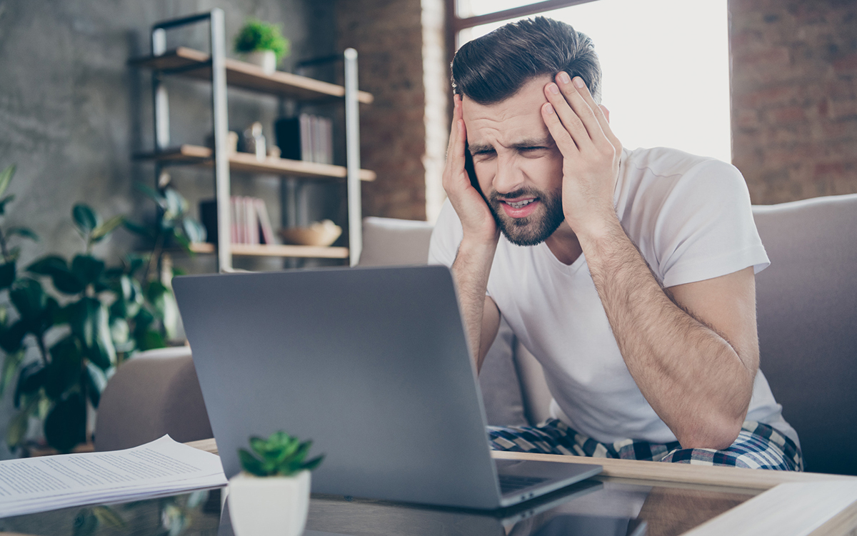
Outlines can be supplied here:
[[[232, 244], [276, 244], [273, 226], [265, 202], [257, 197], [231, 196]], [[206, 227], [207, 241], [217, 244], [217, 202], [200, 202], [200, 218]]]

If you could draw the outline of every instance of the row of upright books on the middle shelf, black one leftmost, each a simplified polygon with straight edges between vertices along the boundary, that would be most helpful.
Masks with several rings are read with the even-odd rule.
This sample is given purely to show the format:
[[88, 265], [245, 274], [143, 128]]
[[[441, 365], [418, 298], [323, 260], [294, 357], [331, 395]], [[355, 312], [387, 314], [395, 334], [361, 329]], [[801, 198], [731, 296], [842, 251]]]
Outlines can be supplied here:
[[302, 113], [284, 117], [274, 125], [280, 156], [319, 164], [333, 164], [333, 121]]

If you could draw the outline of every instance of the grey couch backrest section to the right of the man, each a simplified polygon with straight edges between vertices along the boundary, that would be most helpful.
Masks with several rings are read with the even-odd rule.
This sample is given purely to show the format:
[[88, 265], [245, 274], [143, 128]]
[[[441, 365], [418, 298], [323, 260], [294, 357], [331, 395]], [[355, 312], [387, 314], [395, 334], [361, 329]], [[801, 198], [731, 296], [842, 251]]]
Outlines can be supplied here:
[[761, 369], [806, 470], [857, 474], [857, 195], [753, 207]]

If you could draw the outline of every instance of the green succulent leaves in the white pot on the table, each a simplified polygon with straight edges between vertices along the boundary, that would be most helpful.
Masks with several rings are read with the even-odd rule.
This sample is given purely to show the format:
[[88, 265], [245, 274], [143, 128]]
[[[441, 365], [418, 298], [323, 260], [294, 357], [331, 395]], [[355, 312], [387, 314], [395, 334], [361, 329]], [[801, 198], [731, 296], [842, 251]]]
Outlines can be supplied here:
[[250, 449], [238, 449], [238, 458], [244, 471], [257, 477], [291, 476], [301, 471], [312, 471], [319, 467], [324, 455], [310, 461], [303, 461], [309, 454], [311, 441], [301, 442], [284, 431], [277, 431], [271, 437], [250, 437]]

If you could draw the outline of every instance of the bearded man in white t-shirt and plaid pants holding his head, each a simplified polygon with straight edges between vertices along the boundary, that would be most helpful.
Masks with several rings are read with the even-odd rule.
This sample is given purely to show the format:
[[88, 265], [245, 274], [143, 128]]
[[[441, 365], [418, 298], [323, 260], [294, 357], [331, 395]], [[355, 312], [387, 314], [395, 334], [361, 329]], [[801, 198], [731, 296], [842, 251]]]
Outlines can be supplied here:
[[492, 427], [493, 448], [800, 470], [758, 372], [769, 261], [740, 172], [622, 148], [600, 81], [590, 39], [543, 17], [452, 62], [429, 260], [452, 267], [477, 368], [502, 315], [554, 398], [542, 425]]

